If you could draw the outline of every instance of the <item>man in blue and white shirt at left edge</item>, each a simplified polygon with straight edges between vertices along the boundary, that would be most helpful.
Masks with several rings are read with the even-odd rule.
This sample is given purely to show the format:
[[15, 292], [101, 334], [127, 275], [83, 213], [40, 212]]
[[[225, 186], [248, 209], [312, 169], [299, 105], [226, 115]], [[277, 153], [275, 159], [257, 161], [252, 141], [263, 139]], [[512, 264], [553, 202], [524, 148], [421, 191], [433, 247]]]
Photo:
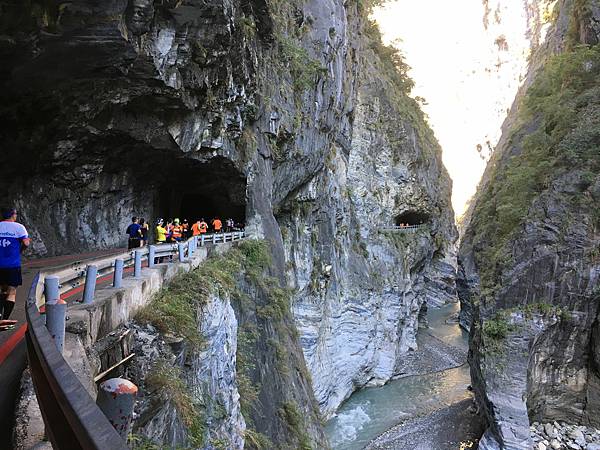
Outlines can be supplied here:
[[10, 317], [17, 299], [21, 277], [21, 249], [30, 244], [23, 225], [17, 223], [17, 210], [3, 208], [0, 222], [0, 313], [3, 320]]

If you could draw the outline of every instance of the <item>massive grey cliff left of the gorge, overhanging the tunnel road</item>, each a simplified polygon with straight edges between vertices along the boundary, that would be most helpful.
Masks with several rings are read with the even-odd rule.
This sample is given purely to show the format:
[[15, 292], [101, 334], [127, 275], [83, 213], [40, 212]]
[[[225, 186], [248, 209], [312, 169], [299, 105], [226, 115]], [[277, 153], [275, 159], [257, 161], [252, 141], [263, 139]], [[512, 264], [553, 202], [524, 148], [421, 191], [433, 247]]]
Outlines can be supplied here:
[[[232, 215], [268, 242], [268, 272], [292, 295], [281, 326], [250, 320], [264, 408], [241, 419], [235, 406], [235, 332], [248, 319], [226, 297], [199, 314], [210, 358], [186, 363], [192, 387], [214, 381], [192, 394], [230, 394], [213, 409], [220, 425], [204, 424], [215, 446], [326, 448], [319, 415], [393, 377], [425, 302], [455, 297], [451, 183], [369, 3], [1, 5], [0, 189], [36, 254], [122, 244], [134, 214]], [[398, 218], [425, 225], [385, 230]], [[240, 289], [263, 303], [261, 289]], [[284, 376], [278, 352], [291, 355]], [[197, 425], [144, 420], [175, 446]]]

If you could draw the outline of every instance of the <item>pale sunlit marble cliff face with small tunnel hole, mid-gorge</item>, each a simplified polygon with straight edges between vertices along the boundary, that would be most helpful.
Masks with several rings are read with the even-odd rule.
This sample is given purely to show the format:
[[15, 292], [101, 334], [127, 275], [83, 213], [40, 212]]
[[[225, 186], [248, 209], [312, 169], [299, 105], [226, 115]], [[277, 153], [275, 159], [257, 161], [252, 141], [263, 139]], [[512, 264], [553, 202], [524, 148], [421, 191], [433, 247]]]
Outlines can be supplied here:
[[[325, 170], [289, 199], [285, 208], [296, 214], [278, 217], [299, 291], [300, 341], [326, 416], [355, 389], [397, 374], [416, 348], [428, 299], [456, 299], [450, 181], [439, 147], [423, 122], [406, 119], [403, 94], [390, 98], [375, 55], [361, 52], [348, 145], [338, 143]], [[410, 212], [423, 217], [422, 229], [386, 230]]]

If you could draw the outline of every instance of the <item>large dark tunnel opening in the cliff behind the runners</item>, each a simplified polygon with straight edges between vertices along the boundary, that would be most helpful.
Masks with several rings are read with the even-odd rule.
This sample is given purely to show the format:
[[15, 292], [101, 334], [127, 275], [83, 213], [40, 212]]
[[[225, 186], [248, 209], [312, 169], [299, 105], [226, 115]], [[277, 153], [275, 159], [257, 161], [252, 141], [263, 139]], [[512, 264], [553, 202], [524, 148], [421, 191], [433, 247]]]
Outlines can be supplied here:
[[150, 242], [157, 218], [210, 224], [218, 216], [223, 224], [228, 218], [245, 224], [246, 177], [233, 161], [199, 161], [176, 151], [103, 137], [69, 148], [68, 163], [42, 152], [23, 173], [3, 166], [5, 202], [35, 237], [28, 256], [126, 247], [133, 216], [150, 224]]

